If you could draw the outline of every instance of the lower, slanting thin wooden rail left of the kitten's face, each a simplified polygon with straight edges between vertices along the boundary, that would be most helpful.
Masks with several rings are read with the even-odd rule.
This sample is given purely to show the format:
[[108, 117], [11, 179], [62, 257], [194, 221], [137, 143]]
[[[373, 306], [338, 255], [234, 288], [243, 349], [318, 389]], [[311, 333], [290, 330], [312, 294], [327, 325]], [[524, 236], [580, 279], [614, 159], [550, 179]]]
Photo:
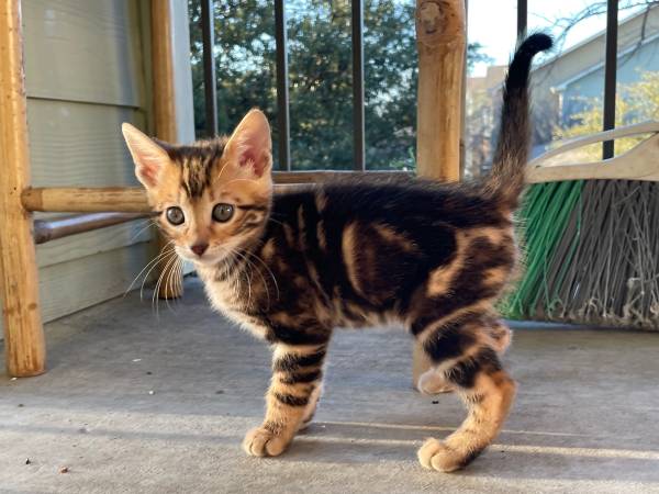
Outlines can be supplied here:
[[46, 242], [68, 237], [69, 235], [120, 225], [132, 220], [145, 217], [149, 217], [149, 215], [144, 213], [89, 213], [55, 220], [35, 220], [34, 243], [45, 244]]

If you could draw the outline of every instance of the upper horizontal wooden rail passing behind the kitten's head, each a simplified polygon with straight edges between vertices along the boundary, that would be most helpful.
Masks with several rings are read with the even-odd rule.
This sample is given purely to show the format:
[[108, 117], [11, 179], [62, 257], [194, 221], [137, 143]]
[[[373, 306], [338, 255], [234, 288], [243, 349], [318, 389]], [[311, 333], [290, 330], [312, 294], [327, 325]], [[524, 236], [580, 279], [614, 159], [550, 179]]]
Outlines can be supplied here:
[[[406, 171], [284, 171], [275, 172], [276, 190], [287, 190], [291, 186], [325, 182], [340, 177], [367, 176], [373, 179], [405, 177]], [[22, 195], [23, 206], [27, 211], [51, 213], [149, 213], [144, 189], [139, 187], [99, 187], [99, 188], [33, 188]]]

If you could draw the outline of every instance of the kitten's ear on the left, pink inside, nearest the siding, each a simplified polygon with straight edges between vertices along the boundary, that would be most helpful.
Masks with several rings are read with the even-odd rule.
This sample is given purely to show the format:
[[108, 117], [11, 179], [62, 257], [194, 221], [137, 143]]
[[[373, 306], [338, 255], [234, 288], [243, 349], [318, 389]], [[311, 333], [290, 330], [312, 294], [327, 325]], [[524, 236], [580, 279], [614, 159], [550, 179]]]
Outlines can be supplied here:
[[124, 122], [121, 132], [133, 156], [137, 180], [147, 189], [158, 187], [163, 170], [169, 162], [167, 151], [130, 123]]

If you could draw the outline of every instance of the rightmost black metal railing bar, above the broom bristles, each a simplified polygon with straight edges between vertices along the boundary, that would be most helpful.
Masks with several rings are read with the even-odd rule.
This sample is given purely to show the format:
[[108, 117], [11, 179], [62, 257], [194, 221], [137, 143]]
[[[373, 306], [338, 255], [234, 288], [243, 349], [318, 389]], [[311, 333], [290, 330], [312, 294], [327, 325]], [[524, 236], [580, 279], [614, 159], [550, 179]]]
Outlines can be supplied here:
[[[617, 79], [617, 18], [618, 0], [606, 2], [606, 57], [604, 64], [604, 131], [615, 127], [615, 92]], [[613, 158], [614, 142], [606, 141], [602, 146], [604, 159]]]

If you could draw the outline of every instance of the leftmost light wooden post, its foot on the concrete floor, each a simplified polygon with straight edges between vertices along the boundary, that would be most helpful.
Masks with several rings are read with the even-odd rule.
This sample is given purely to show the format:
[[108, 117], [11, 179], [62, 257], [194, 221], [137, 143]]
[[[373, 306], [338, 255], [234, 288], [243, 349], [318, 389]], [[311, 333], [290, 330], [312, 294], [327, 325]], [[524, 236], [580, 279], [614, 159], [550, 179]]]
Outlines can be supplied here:
[[45, 370], [32, 216], [21, 193], [30, 187], [30, 150], [20, 0], [0, 0], [0, 296], [10, 375]]

